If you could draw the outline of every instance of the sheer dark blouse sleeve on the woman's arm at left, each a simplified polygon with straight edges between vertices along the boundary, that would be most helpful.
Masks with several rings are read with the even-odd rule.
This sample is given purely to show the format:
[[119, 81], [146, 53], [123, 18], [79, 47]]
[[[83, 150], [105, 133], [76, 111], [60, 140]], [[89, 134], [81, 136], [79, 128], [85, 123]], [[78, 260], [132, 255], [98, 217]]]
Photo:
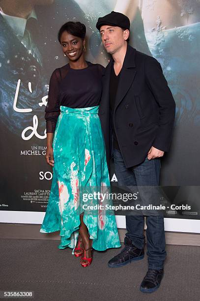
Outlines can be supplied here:
[[56, 69], [51, 76], [49, 84], [48, 102], [45, 109], [47, 133], [54, 133], [57, 118], [60, 114], [59, 108], [59, 71]]

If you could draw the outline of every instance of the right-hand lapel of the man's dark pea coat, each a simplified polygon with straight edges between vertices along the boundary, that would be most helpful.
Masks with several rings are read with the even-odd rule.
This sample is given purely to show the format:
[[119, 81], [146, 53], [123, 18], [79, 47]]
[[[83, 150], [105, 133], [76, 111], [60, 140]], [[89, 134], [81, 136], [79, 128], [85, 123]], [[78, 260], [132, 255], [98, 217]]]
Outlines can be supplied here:
[[127, 93], [134, 81], [136, 75], [135, 51], [136, 50], [131, 46], [127, 46], [127, 51], [118, 82], [114, 110], [122, 101], [123, 97], [125, 96], [125, 94]]

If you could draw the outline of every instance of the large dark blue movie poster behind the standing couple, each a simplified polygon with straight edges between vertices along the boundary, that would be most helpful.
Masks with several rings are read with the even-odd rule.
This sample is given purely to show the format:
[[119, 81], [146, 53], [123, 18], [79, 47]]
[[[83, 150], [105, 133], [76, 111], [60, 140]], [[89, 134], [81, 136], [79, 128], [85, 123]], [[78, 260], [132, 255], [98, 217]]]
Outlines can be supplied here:
[[[96, 22], [114, 10], [131, 21], [130, 45], [161, 63], [176, 102], [160, 183], [171, 204], [191, 210], [167, 211], [165, 217], [200, 219], [200, 1], [29, 2], [29, 15], [27, 7], [18, 7], [21, 18], [6, 6], [0, 11], [0, 211], [46, 211], [52, 169], [45, 160], [44, 110], [51, 74], [67, 63], [57, 32], [67, 21], [84, 23], [86, 59], [106, 66], [110, 57]], [[116, 180], [113, 169], [111, 181]]]

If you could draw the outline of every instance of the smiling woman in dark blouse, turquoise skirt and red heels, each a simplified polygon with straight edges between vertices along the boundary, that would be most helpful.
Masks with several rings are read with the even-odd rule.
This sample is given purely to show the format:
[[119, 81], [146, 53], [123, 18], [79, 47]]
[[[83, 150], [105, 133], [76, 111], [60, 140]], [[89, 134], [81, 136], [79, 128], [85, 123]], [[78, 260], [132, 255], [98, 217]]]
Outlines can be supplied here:
[[120, 246], [113, 213], [102, 207], [93, 210], [89, 205], [102, 200], [86, 198], [105, 191], [110, 181], [98, 117], [103, 66], [85, 60], [85, 35], [80, 22], [67, 22], [58, 32], [69, 63], [57, 68], [50, 80], [46, 160], [54, 174], [40, 230], [60, 230], [58, 248], [73, 248], [83, 267], [91, 264], [92, 247], [103, 251]]

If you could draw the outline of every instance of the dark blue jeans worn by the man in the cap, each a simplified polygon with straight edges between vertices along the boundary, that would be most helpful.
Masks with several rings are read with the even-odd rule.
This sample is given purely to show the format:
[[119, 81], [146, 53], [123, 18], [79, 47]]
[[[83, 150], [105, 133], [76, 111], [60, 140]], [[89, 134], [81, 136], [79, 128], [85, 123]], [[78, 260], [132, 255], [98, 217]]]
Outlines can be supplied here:
[[[147, 158], [143, 163], [126, 168], [121, 152], [114, 149], [114, 168], [120, 186], [158, 186], [160, 176], [160, 159]], [[150, 203], [150, 202], [149, 202]], [[149, 269], [163, 269], [166, 258], [165, 231], [163, 215], [146, 216], [146, 243]], [[142, 249], [144, 247], [144, 215], [126, 215], [126, 237]]]

